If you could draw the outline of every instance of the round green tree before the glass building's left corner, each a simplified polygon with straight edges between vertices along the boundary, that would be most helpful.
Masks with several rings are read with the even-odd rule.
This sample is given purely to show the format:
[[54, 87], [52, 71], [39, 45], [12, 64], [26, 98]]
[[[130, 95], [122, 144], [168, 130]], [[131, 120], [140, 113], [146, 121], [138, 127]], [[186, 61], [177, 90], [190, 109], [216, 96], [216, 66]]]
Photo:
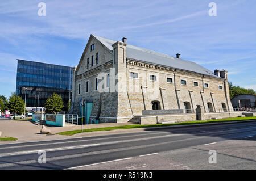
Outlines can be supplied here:
[[15, 119], [16, 113], [18, 113], [19, 115], [23, 113], [24, 106], [25, 106], [25, 102], [20, 96], [16, 95], [15, 93], [13, 93], [10, 96], [7, 107], [9, 108], [11, 113], [14, 113], [14, 119]]

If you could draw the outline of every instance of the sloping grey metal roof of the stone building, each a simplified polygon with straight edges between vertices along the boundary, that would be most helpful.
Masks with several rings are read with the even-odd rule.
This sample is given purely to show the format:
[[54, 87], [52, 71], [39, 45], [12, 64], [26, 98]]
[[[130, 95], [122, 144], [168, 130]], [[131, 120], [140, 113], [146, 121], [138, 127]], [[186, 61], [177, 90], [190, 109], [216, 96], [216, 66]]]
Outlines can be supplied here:
[[[109, 50], [112, 50], [112, 44], [116, 41], [106, 39], [104, 37], [93, 35], [97, 40], [99, 40], [102, 44], [104, 44]], [[155, 65], [163, 65], [170, 68], [181, 69], [192, 71], [204, 75], [209, 75], [211, 77], [220, 78], [215, 75], [212, 71], [204, 68], [203, 66], [196, 64], [195, 62], [183, 60], [181, 58], [176, 58], [169, 56], [167, 54], [154, 52], [152, 50], [148, 50], [141, 47], [135, 47], [133, 45], [127, 44], [126, 46], [126, 57], [129, 59], [148, 62], [150, 64]]]

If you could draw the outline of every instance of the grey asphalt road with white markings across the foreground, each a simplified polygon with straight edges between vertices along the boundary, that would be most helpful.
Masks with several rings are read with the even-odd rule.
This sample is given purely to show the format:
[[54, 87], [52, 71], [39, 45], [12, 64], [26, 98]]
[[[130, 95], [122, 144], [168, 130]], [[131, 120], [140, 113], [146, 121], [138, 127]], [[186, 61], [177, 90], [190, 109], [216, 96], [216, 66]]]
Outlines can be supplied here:
[[0, 169], [256, 169], [255, 140], [248, 122], [0, 144]]

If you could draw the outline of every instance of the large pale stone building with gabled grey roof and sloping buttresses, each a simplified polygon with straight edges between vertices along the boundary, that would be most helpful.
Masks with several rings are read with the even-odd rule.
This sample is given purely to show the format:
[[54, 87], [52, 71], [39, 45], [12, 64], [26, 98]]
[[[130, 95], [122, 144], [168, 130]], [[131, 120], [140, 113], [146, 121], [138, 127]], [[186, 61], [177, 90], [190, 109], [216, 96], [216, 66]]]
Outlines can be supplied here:
[[195, 62], [90, 35], [73, 68], [71, 112], [80, 114], [80, 99], [92, 102], [90, 119], [125, 122], [143, 110], [205, 112], [233, 109], [227, 71], [214, 72]]

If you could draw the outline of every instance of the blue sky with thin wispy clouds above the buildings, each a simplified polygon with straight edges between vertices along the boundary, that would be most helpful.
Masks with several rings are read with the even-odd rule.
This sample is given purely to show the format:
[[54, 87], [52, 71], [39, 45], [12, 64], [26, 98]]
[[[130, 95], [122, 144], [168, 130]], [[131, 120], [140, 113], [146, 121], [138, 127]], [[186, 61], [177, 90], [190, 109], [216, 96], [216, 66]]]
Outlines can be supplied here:
[[[46, 16], [38, 4], [46, 3]], [[217, 16], [209, 16], [210, 2]], [[233, 85], [256, 90], [256, 1], [0, 2], [0, 95], [15, 91], [16, 59], [76, 66], [90, 34], [228, 70]]]

